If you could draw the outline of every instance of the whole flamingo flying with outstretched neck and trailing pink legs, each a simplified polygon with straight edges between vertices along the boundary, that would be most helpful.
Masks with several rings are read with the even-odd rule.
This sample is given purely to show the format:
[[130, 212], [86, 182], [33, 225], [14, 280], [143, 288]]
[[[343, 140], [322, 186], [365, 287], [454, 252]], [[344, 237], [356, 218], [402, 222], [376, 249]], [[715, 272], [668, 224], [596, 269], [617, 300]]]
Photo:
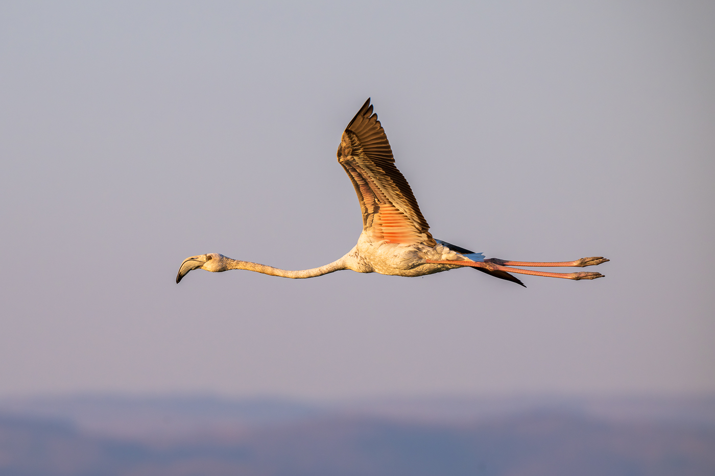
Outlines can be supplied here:
[[607, 262], [603, 257], [587, 257], [568, 262], [521, 262], [485, 259], [455, 244], [434, 239], [420, 212], [415, 196], [403, 174], [395, 167], [392, 149], [378, 115], [368, 98], [358, 114], [347, 124], [337, 148], [337, 162], [350, 177], [363, 211], [363, 232], [358, 244], [342, 258], [325, 266], [288, 271], [265, 264], [231, 259], [219, 253], [199, 254], [184, 259], [177, 284], [192, 269], [224, 272], [249, 271], [294, 279], [322, 276], [342, 269], [360, 273], [378, 272], [417, 277], [460, 267], [472, 267], [499, 279], [526, 287], [510, 273], [566, 279], [596, 279], [598, 272], [552, 273], [518, 267], [586, 267]]

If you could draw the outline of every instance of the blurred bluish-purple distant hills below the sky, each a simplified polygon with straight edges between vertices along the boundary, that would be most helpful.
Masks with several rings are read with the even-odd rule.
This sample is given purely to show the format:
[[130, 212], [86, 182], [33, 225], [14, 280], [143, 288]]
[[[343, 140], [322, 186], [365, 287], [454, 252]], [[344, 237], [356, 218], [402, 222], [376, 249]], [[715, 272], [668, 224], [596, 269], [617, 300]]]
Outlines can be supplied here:
[[0, 475], [714, 475], [715, 397], [0, 400]]

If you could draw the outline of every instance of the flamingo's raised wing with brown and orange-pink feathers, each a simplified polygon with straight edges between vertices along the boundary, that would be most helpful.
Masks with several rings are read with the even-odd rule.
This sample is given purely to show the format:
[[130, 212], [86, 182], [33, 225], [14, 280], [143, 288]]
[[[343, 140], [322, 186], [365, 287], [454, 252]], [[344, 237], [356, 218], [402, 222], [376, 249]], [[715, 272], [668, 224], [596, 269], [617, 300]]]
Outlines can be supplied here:
[[410, 185], [395, 167], [390, 142], [370, 99], [342, 133], [337, 162], [352, 180], [363, 210], [363, 229], [373, 241], [435, 246]]

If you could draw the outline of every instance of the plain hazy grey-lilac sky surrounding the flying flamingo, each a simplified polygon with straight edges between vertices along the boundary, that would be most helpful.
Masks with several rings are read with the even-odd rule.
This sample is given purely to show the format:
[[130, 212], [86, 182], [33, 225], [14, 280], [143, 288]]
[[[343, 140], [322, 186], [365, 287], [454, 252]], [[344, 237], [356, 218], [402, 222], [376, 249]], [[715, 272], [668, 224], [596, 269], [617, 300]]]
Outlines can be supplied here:
[[[712, 394], [714, 23], [692, 0], [2, 2], [0, 396]], [[194, 254], [348, 252], [335, 151], [368, 97], [436, 238], [606, 277], [174, 282]]]

